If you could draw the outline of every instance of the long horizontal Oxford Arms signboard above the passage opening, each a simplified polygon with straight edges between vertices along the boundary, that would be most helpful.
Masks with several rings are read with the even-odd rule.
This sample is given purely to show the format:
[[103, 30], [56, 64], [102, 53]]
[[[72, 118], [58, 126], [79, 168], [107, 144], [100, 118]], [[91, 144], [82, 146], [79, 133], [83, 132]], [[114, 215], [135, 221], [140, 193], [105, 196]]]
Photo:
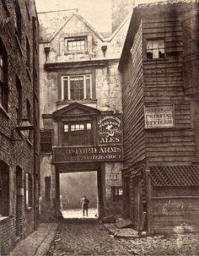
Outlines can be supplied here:
[[54, 148], [54, 163], [83, 162], [83, 161], [122, 161], [123, 149], [118, 146]]

